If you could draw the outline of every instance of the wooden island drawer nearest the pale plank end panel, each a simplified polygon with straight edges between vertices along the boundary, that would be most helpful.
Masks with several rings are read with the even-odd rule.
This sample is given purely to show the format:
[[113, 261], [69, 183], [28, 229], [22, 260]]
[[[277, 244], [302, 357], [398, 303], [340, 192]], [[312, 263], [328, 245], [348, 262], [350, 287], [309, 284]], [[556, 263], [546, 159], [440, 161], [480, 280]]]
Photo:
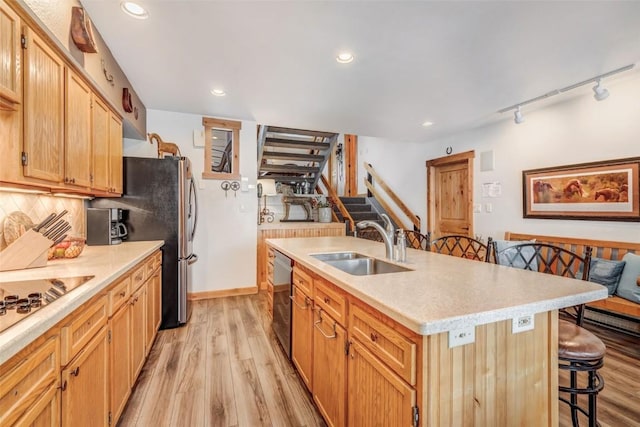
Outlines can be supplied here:
[[415, 385], [416, 344], [413, 341], [356, 304], [349, 308], [349, 334], [407, 383]]

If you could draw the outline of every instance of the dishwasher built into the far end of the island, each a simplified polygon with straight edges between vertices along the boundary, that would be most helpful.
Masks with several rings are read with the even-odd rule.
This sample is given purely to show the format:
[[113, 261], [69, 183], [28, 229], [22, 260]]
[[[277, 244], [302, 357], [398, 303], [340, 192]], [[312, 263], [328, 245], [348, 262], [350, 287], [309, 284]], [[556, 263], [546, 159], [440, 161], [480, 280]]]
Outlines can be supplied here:
[[293, 262], [286, 255], [275, 252], [273, 262], [273, 332], [282, 349], [291, 359], [291, 283]]

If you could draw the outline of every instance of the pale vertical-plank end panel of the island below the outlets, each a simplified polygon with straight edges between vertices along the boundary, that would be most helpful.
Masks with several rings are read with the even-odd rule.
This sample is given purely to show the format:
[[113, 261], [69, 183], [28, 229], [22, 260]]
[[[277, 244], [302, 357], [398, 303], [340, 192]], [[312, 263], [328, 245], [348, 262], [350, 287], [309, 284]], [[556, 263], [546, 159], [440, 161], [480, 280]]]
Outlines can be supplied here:
[[449, 348], [448, 333], [423, 341], [422, 425], [558, 425], [557, 311], [535, 329], [512, 321], [476, 326], [475, 342]]

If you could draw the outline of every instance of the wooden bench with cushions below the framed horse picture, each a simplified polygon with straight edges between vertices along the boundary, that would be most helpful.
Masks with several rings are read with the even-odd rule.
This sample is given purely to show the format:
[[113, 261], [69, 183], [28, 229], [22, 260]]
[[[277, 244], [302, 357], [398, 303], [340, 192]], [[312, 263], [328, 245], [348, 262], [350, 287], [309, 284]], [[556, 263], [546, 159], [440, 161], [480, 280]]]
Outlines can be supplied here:
[[[609, 240], [591, 240], [573, 237], [542, 236], [536, 234], [505, 232], [505, 240], [535, 240], [540, 243], [548, 243], [563, 247], [572, 252], [584, 253], [585, 246], [593, 248], [592, 256], [603, 260], [621, 261], [627, 253], [627, 260], [633, 261], [625, 264], [621, 278], [625, 281], [625, 289], [616, 290], [616, 293], [607, 299], [587, 304], [589, 309], [604, 314], [612, 314], [616, 317], [640, 323], [640, 271], [637, 261], [640, 260], [640, 243], [613, 242]], [[635, 256], [634, 256], [635, 255]], [[593, 273], [592, 261], [592, 273]], [[631, 288], [635, 285], [635, 288]], [[623, 292], [624, 291], [624, 292]], [[623, 296], [620, 296], [620, 294]], [[637, 298], [637, 299], [636, 299]], [[608, 323], [608, 322], [604, 322]], [[616, 327], [617, 325], [609, 325]], [[632, 331], [637, 333], [636, 331]]]

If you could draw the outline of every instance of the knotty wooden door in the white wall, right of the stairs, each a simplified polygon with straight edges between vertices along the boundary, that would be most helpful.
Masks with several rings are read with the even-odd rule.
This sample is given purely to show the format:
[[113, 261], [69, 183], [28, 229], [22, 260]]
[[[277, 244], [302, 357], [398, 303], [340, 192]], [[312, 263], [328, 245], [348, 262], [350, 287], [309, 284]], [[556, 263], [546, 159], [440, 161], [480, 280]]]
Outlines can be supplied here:
[[427, 161], [428, 230], [432, 239], [448, 234], [473, 237], [474, 152]]

